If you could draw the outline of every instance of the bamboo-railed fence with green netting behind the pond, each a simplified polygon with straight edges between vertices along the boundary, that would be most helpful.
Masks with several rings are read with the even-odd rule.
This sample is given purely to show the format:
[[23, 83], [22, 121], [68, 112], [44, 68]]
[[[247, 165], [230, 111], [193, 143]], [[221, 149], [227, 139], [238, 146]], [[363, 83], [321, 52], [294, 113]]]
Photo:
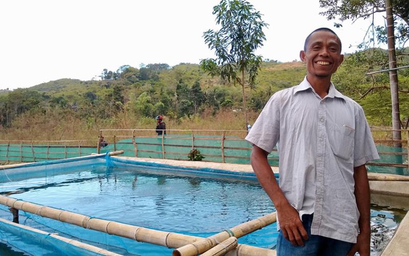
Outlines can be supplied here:
[[[387, 136], [374, 136], [380, 137], [375, 139], [375, 143], [383, 145], [391, 145], [394, 142], [401, 142], [405, 145], [403, 147], [406, 152], [382, 152], [379, 151], [379, 155], [392, 155], [401, 159], [406, 157], [409, 159], [409, 130], [388, 130], [388, 129], [372, 129], [373, 134], [383, 133]], [[394, 131], [401, 131], [403, 137], [406, 137], [402, 140], [393, 140], [388, 139], [388, 133]], [[220, 162], [225, 163], [227, 159], [231, 160], [250, 160], [249, 154], [251, 152], [251, 147], [247, 146], [228, 146], [226, 142], [236, 141], [243, 142], [244, 136], [247, 134], [247, 131], [243, 130], [167, 130], [168, 133], [180, 134], [178, 137], [169, 137], [162, 134], [162, 136], [152, 136], [155, 130], [153, 129], [132, 129], [132, 130], [100, 130], [99, 136], [106, 134], [106, 137], [111, 138], [111, 144], [113, 144], [113, 150], [124, 150], [125, 152], [131, 152], [130, 155], [134, 157], [140, 157], [141, 153], [151, 153], [158, 154], [157, 158], [163, 159], [175, 159], [174, 157], [179, 157], [179, 159], [187, 159], [189, 153], [183, 153], [183, 148], [206, 148], [209, 150], [217, 150], [220, 154], [201, 154], [204, 157], [208, 157], [207, 161], [212, 161], [210, 158], [220, 159]], [[203, 134], [212, 134], [217, 137], [202, 137]], [[236, 134], [237, 136], [226, 136]], [[147, 139], [156, 139], [155, 141], [145, 141], [137, 142], [136, 138], [147, 138]], [[122, 141], [122, 139], [131, 139], [129, 142]], [[160, 139], [160, 142], [157, 142], [157, 139]], [[188, 139], [191, 141], [190, 144], [172, 144], [169, 142], [169, 139]], [[209, 140], [214, 141], [214, 145], [201, 145], [198, 143], [200, 140]], [[95, 144], [96, 143], [96, 144]], [[96, 146], [95, 146], [96, 145]], [[3, 150], [0, 151], [0, 158], [6, 159], [6, 162], [9, 162], [9, 159], [15, 159], [14, 161], [27, 162], [27, 161], [42, 161], [42, 160], [56, 160], [61, 158], [70, 158], [75, 156], [89, 155], [90, 151], [95, 150], [96, 153], [100, 153], [101, 147], [98, 140], [55, 140], [55, 141], [38, 141], [38, 140], [0, 140], [0, 146]], [[161, 150], [146, 150], [144, 147], [147, 146], [157, 146]], [[172, 152], [166, 150], [168, 147], [178, 148], [179, 152]], [[75, 150], [75, 151], [74, 151]], [[86, 153], [85, 151], [88, 151]], [[228, 151], [235, 150], [236, 152], [242, 152], [242, 154], [237, 153], [236, 155], [229, 155]], [[55, 152], [58, 151], [58, 152]], [[186, 150], [185, 150], [186, 151]], [[274, 149], [273, 151], [277, 151]], [[36, 156], [40, 154], [41, 156]], [[58, 157], [57, 157], [58, 156]], [[128, 154], [129, 156], [129, 154]], [[153, 157], [155, 158], [155, 157]], [[18, 159], [18, 160], [17, 160]], [[278, 158], [269, 158], [272, 161], [279, 161]], [[277, 164], [273, 164], [277, 165]], [[390, 167], [401, 167], [409, 168], [408, 161], [397, 160], [395, 163], [391, 162], [369, 162], [367, 165], [373, 166], [390, 166]]]

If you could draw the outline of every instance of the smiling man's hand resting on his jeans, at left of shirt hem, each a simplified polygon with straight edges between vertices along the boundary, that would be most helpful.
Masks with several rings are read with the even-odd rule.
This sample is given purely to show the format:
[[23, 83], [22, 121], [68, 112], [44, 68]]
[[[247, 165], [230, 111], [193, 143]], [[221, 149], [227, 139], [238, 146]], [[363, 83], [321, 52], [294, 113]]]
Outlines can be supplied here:
[[283, 206], [276, 205], [276, 208], [280, 228], [285, 239], [290, 241], [293, 246], [304, 246], [304, 241], [308, 240], [308, 234], [300, 220], [298, 211], [288, 202], [284, 203]]

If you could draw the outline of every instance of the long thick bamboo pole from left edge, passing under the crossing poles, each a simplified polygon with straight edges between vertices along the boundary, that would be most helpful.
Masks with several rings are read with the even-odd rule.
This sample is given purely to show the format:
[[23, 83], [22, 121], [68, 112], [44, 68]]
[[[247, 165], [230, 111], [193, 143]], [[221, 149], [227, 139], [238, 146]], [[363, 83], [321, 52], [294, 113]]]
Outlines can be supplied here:
[[[77, 225], [86, 229], [93, 229], [108, 234], [115, 234], [116, 236], [129, 238], [139, 242], [146, 242], [166, 246], [168, 248], [178, 248], [189, 243], [194, 243], [198, 240], [203, 240], [203, 238], [189, 236], [186, 234], [154, 230], [139, 226], [133, 226], [125, 223], [120, 223], [116, 221], [91, 218], [86, 215], [76, 214], [75, 212], [56, 209], [44, 205], [38, 205], [1, 195], [0, 204], [13, 207], [15, 209], [31, 212], [32, 214], [39, 215], [41, 217]], [[274, 251], [265, 248], [250, 245], [240, 245], [240, 248], [241, 247], [244, 247], [246, 249], [244, 250], [244, 254], [237, 252], [236, 255], [239, 256], [274, 255], [272, 254], [274, 253]]]

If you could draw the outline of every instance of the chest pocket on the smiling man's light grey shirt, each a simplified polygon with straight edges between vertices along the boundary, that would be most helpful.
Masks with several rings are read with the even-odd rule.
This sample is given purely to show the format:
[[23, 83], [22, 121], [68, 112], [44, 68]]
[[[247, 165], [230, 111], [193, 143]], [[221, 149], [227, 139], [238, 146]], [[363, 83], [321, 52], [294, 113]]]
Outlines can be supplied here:
[[335, 156], [350, 160], [354, 150], [355, 129], [346, 124], [330, 124], [327, 130], [329, 144]]

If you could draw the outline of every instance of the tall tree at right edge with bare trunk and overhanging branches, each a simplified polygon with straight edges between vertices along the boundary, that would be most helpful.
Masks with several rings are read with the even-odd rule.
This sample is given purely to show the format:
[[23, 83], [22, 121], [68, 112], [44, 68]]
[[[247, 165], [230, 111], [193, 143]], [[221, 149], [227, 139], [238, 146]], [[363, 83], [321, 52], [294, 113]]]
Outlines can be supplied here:
[[[395, 0], [393, 3], [392, 0], [320, 0], [320, 6], [327, 9], [321, 13], [322, 15], [327, 16], [328, 19], [334, 19], [339, 16], [341, 21], [346, 19], [366, 19], [373, 17], [377, 12], [386, 12], [386, 26], [375, 27], [375, 24], [372, 22], [368, 28], [368, 31], [372, 28], [372, 38], [370, 38], [369, 42], [375, 44], [375, 34], [381, 42], [388, 42], [392, 127], [394, 130], [400, 130], [398, 75], [396, 70], [391, 70], [396, 68], [394, 24], [396, 22], [397, 25], [395, 26], [396, 39], [402, 43], [403, 47], [405, 42], [409, 40], [409, 2], [407, 0]], [[361, 47], [368, 47], [368, 44], [365, 44], [364, 41]], [[401, 140], [401, 133], [394, 131], [393, 139]], [[402, 144], [399, 141], [395, 142], [394, 146], [401, 147]]]

